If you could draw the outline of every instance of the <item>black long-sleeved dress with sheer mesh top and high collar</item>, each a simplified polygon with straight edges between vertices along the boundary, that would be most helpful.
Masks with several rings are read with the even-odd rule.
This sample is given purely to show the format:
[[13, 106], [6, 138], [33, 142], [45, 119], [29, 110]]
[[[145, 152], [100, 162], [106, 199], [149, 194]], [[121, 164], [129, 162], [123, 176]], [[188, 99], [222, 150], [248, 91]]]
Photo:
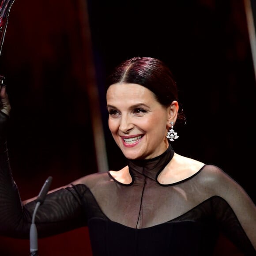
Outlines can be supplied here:
[[[35, 202], [23, 204], [11, 176], [6, 144], [0, 154], [0, 235], [29, 238]], [[169, 148], [150, 160], [128, 161], [131, 184], [109, 172], [47, 195], [35, 218], [38, 237], [88, 226], [94, 256], [210, 256], [223, 232], [244, 253], [256, 255], [246, 232], [255, 205], [221, 169], [203, 166], [191, 177], [160, 184]], [[72, 246], [72, 245], [71, 245]]]

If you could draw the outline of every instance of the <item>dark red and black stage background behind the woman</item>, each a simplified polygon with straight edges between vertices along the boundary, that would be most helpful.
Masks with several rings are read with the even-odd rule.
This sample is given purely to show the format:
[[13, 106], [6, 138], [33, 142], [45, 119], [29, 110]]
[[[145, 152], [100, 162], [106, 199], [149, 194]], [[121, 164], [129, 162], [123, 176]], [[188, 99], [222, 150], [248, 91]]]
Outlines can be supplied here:
[[[187, 117], [174, 150], [221, 167], [256, 202], [256, 83], [243, 0], [16, 0], [0, 72], [22, 200], [49, 176], [56, 188], [99, 171], [98, 117], [109, 169], [124, 166], [107, 128], [104, 80], [133, 56], [160, 58], [173, 71]], [[88, 241], [87, 228], [74, 230], [41, 239], [39, 254], [91, 255]], [[29, 255], [29, 241], [0, 237], [0, 254]]]

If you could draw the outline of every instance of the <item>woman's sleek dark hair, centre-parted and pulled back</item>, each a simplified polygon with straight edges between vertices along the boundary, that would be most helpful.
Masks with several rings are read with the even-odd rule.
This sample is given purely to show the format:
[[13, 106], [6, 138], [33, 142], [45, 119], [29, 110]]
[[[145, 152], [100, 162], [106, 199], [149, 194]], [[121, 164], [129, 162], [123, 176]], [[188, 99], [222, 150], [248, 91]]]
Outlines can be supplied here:
[[[178, 90], [173, 74], [161, 60], [150, 57], [134, 57], [123, 61], [114, 68], [106, 80], [106, 90], [114, 83], [136, 83], [151, 90], [157, 101], [170, 105], [178, 101]], [[177, 121], [184, 123], [182, 108], [179, 109]]]

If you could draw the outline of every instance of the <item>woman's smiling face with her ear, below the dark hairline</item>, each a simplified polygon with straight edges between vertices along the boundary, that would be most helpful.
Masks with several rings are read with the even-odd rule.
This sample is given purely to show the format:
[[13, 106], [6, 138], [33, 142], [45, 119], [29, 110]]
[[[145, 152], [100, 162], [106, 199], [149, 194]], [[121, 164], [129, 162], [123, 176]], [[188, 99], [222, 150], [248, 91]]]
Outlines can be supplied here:
[[169, 122], [176, 121], [177, 104], [166, 108], [151, 90], [134, 83], [113, 84], [106, 97], [109, 129], [126, 158], [154, 158], [166, 151], [166, 133]]

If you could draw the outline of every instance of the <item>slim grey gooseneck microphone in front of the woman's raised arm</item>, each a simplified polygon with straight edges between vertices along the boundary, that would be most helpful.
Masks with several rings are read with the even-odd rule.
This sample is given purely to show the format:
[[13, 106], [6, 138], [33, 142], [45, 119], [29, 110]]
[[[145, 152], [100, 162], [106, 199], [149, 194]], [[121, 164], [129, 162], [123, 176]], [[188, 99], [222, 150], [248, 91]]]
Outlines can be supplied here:
[[41, 191], [38, 194], [36, 199], [36, 206], [32, 216], [32, 223], [30, 226], [30, 256], [38, 256], [38, 231], [35, 225], [35, 216], [38, 210], [38, 207], [42, 205], [45, 201], [45, 197], [49, 191], [50, 185], [52, 183], [53, 177], [48, 177], [43, 184]]

